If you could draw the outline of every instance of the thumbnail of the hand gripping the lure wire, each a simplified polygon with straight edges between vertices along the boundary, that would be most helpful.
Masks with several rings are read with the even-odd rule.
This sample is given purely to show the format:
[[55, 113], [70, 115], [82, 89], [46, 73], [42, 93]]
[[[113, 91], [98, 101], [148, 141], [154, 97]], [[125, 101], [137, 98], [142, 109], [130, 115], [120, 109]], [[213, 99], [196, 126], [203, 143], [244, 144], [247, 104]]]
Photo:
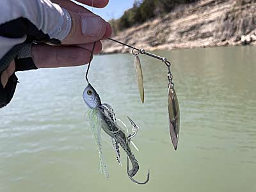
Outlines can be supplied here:
[[99, 17], [83, 17], [82, 33], [88, 36], [98, 36], [102, 28], [102, 20]]

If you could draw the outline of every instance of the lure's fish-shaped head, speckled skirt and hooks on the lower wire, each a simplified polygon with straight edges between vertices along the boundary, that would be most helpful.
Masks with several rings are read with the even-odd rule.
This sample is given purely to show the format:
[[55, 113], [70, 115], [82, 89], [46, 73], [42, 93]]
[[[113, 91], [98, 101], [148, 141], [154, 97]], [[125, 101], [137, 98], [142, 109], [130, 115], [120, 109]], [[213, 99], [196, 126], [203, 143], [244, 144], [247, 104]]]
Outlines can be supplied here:
[[[95, 43], [93, 44], [93, 49], [95, 47]], [[93, 54], [93, 51], [92, 51]], [[113, 148], [116, 152], [116, 159], [118, 163], [120, 164], [120, 150], [119, 146], [121, 146], [124, 151], [127, 154], [127, 174], [129, 178], [136, 182], [137, 184], [146, 184], [150, 177], [150, 172], [148, 170], [147, 174], [147, 180], [145, 182], [138, 182], [134, 180], [132, 177], [136, 175], [136, 173], [139, 170], [139, 164], [137, 159], [135, 158], [134, 154], [132, 153], [130, 143], [131, 139], [136, 135], [138, 131], [138, 126], [134, 124], [134, 122], [129, 118], [131, 124], [133, 127], [135, 127], [134, 134], [130, 134], [129, 136], [126, 136], [125, 131], [120, 127], [118, 124], [116, 124], [116, 118], [115, 113], [111, 106], [109, 104], [102, 104], [99, 94], [96, 92], [96, 90], [93, 88], [93, 86], [88, 81], [88, 71], [90, 68], [90, 64], [92, 61], [92, 55], [91, 60], [87, 68], [86, 72], [86, 81], [88, 85], [86, 88], [84, 88], [83, 92], [83, 99], [88, 108], [90, 108], [92, 111], [89, 112], [90, 116], [90, 126], [93, 132], [93, 136], [97, 140], [97, 148], [99, 150], [99, 158], [100, 158], [100, 171], [106, 175], [106, 177], [109, 177], [106, 163], [104, 162], [104, 158], [102, 156], [102, 144], [101, 144], [101, 136], [100, 136], [100, 129], [102, 128], [106, 134], [108, 134], [111, 137], [111, 140], [113, 141]], [[132, 169], [129, 170], [129, 161], [132, 163]]]

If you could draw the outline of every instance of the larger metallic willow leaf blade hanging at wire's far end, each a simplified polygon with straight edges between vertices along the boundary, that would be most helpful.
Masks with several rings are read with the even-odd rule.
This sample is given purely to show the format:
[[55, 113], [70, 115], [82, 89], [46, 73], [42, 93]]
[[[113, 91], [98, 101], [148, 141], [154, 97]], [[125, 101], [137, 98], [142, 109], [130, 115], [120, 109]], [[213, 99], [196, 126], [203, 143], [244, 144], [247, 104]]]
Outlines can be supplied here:
[[173, 147], [177, 150], [180, 131], [180, 109], [174, 88], [168, 90], [169, 129]]

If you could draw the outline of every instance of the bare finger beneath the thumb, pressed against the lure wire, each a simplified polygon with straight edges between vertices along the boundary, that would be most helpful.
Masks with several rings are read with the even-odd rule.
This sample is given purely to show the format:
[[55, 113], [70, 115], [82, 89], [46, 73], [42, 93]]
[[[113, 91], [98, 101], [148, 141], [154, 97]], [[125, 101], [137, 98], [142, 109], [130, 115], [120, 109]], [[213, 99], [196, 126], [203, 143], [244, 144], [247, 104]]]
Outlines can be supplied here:
[[[95, 44], [94, 53], [101, 50], [100, 42]], [[72, 67], [89, 63], [92, 52], [92, 45], [76, 46], [51, 46], [51, 45], [34, 45], [31, 48], [31, 56], [36, 67]]]

